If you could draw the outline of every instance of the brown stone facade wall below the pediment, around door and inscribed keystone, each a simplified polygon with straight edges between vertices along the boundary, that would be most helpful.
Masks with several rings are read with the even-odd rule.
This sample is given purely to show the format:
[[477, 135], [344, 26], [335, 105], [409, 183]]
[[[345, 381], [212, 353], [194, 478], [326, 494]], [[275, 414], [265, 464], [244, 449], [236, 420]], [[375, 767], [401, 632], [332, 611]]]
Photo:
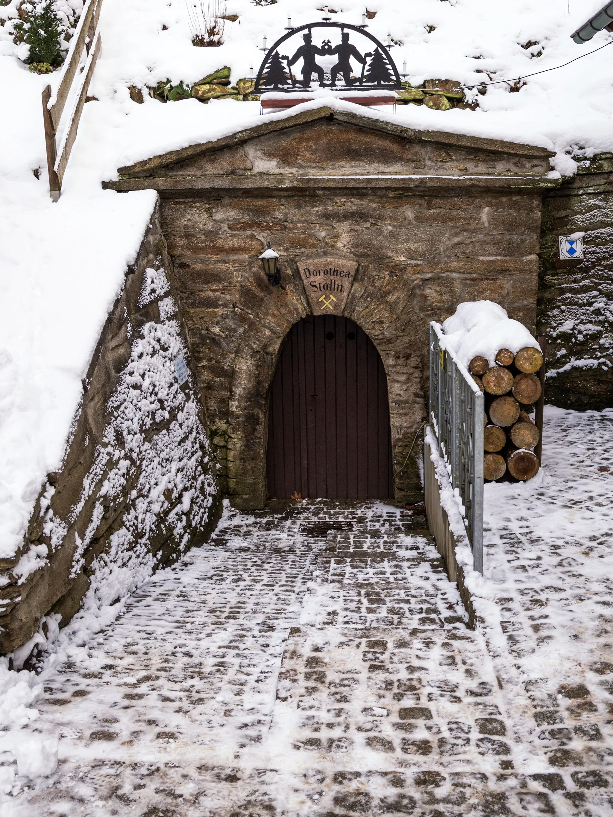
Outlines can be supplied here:
[[[399, 190], [163, 194], [173, 284], [211, 429], [222, 488], [238, 507], [266, 500], [267, 395], [289, 328], [311, 313], [298, 261], [358, 262], [344, 314], [387, 372], [395, 468], [427, 415], [427, 327], [488, 298], [534, 331], [539, 194]], [[273, 288], [257, 256], [281, 255]], [[414, 446], [396, 496], [421, 495]]]

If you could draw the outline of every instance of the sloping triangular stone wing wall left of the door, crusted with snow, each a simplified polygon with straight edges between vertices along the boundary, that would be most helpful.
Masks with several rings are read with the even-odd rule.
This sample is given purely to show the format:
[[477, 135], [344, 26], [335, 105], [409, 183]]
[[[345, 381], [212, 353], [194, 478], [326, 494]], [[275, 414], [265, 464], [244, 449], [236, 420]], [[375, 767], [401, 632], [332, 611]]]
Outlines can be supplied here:
[[2, 653], [34, 644], [46, 615], [63, 626], [83, 604], [113, 604], [217, 522], [199, 396], [173, 368], [188, 355], [165, 270], [156, 210], [83, 382], [63, 467], [47, 476], [20, 552], [0, 563]]

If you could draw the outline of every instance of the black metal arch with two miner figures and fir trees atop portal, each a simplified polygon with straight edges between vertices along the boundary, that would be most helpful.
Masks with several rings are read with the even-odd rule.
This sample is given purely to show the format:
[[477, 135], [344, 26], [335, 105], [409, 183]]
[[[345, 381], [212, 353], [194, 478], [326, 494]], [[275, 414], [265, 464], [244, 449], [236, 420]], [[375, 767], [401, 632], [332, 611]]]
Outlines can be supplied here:
[[[324, 39], [321, 47], [312, 42], [312, 29], [341, 29], [341, 42], [333, 46], [329, 39]], [[356, 46], [350, 42], [350, 32], [355, 31], [374, 43], [374, 49], [360, 54]], [[293, 56], [281, 55], [280, 46], [296, 34], [302, 35], [304, 44], [298, 48]], [[330, 81], [326, 83], [325, 69], [315, 59], [317, 56], [337, 58], [336, 65], [330, 68]], [[302, 80], [294, 74], [292, 68], [302, 59]], [[354, 77], [351, 69], [351, 59], [361, 65], [360, 77]], [[330, 88], [335, 91], [399, 91], [402, 87], [400, 74], [383, 42], [356, 25], [348, 23], [307, 23], [292, 29], [280, 37], [266, 51], [262, 65], [257, 72], [253, 93], [262, 94], [268, 91], [291, 93], [298, 90], [308, 91], [311, 88], [313, 74], [319, 79], [319, 87]], [[338, 85], [339, 74], [344, 84]]]

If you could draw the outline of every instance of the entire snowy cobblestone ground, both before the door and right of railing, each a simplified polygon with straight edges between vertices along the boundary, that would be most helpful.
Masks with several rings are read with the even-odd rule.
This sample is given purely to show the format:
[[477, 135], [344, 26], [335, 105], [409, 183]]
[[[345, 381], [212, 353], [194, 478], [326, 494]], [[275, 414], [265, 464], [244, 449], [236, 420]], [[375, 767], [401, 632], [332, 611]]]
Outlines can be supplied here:
[[613, 411], [545, 421], [532, 489], [485, 491], [477, 632], [417, 513], [226, 507], [57, 637], [0, 813], [613, 814]]

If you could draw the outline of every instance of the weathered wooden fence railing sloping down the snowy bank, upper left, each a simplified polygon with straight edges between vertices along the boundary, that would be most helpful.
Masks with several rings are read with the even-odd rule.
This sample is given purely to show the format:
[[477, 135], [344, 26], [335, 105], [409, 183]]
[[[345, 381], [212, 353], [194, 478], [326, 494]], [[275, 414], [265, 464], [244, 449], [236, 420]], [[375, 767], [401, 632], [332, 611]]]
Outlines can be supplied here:
[[[77, 137], [78, 123], [83, 113], [83, 105], [87, 96], [87, 89], [92, 80], [96, 67], [96, 60], [101, 51], [101, 37], [97, 32], [98, 20], [102, 0], [88, 0], [78, 20], [77, 30], [70, 41], [70, 48], [66, 56], [60, 84], [55, 94], [51, 92], [51, 85], [43, 91], [43, 123], [45, 127], [45, 143], [47, 145], [47, 171], [49, 173], [49, 193], [56, 202], [60, 199], [62, 181], [66, 165]], [[66, 123], [64, 136], [57, 147], [57, 132], [64, 112], [66, 101], [74, 84], [78, 66], [83, 56], [83, 49], [87, 51], [87, 61], [83, 66], [75, 95], [73, 109]]]

